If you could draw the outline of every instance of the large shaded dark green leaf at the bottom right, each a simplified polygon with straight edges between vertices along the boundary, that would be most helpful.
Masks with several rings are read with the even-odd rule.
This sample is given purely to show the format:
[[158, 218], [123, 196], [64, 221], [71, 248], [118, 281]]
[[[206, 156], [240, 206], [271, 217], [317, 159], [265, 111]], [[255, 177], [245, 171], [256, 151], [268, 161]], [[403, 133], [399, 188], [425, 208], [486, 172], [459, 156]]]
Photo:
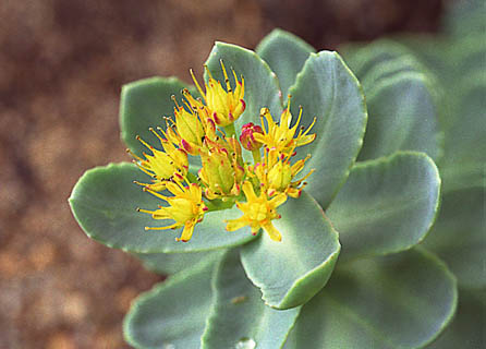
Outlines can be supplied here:
[[340, 263], [284, 348], [418, 348], [447, 326], [455, 302], [453, 275], [424, 251]]

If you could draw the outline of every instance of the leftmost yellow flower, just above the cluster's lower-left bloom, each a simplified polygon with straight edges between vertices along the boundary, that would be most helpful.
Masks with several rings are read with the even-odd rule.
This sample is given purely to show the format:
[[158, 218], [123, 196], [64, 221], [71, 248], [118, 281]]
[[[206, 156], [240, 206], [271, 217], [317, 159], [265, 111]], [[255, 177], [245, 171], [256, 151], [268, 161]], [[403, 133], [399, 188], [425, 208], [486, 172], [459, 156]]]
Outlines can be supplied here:
[[136, 139], [150, 149], [151, 155], [143, 153], [145, 157], [145, 159], [143, 159], [133, 154], [130, 149], [126, 152], [136, 159], [135, 164], [138, 168], [153, 178], [151, 184], [138, 183], [136, 181], [135, 183], [148, 186], [155, 191], [161, 191], [166, 189], [166, 183], [170, 180], [179, 182], [184, 180], [189, 169], [187, 154], [183, 149], [177, 148], [173, 141], [168, 140], [170, 137], [162, 129], [158, 128], [166, 139], [158, 134], [154, 129], [150, 128], [149, 130], [159, 139], [163, 152], [147, 144], [139, 136], [136, 136]]

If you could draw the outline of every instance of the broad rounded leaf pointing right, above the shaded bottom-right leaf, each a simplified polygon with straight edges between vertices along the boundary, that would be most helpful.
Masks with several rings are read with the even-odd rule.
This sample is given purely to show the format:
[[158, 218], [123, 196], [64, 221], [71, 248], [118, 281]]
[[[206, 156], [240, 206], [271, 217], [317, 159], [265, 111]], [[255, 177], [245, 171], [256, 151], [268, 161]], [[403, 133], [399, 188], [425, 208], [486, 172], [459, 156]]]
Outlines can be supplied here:
[[440, 178], [423, 153], [360, 163], [326, 214], [339, 231], [341, 258], [408, 250], [426, 236], [439, 205]]

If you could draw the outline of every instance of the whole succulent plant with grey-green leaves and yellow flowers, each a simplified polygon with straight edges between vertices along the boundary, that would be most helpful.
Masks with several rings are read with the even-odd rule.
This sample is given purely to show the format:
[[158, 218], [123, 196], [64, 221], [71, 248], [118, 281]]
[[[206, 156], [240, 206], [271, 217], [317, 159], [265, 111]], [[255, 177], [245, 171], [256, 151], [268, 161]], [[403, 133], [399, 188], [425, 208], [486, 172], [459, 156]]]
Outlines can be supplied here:
[[123, 87], [135, 164], [88, 170], [70, 203], [90, 238], [170, 275], [134, 302], [131, 345], [417, 348], [442, 330], [455, 278], [412, 249], [439, 205], [422, 153], [440, 155], [434, 82], [402, 63], [363, 73], [380, 86], [364, 86], [366, 135], [363, 88], [340, 56], [281, 31], [256, 52], [217, 43], [196, 87]]

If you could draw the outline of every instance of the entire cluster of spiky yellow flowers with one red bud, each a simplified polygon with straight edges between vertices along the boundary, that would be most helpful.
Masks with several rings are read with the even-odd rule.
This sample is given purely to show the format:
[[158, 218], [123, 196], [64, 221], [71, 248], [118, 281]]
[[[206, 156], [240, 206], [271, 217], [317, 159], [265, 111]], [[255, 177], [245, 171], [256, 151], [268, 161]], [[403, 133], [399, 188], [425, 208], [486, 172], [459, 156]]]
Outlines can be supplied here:
[[[235, 204], [243, 215], [228, 220], [227, 230], [250, 226], [252, 233], [256, 234], [263, 228], [272, 240], [280, 241], [281, 234], [272, 220], [281, 217], [277, 207], [288, 196], [300, 196], [306, 184], [304, 180], [312, 173], [309, 171], [294, 180], [309, 156], [293, 165], [291, 159], [296, 147], [314, 141], [315, 134], [309, 134], [314, 122], [305, 131], [299, 128], [301, 108], [297, 121], [291, 127], [289, 96], [279, 122], [274, 121], [268, 108], [262, 108], [262, 125], [246, 123], [238, 136], [234, 121], [246, 107], [244, 79], [239, 80], [232, 70], [235, 86], [231, 86], [221, 61], [224, 88], [205, 69], [209, 76], [204, 84], [205, 89], [191, 71], [203, 98], [194, 98], [184, 89], [182, 105], [172, 98], [174, 112], [173, 117], [165, 118], [166, 128], [150, 129], [162, 149], [156, 149], [137, 136], [151, 154], [144, 153], [142, 158], [129, 151], [138, 168], [151, 177], [150, 183], [135, 183], [169, 205], [159, 206], [156, 210], [137, 210], [150, 214], [154, 219], [174, 220], [169, 226], [146, 227], [146, 230], [184, 227], [177, 240], [189, 241], [194, 227], [206, 213]], [[252, 152], [253, 164], [243, 160], [243, 152], [246, 151]], [[190, 171], [189, 155], [201, 158], [202, 167], [197, 174]], [[172, 195], [160, 193], [165, 190]]]

